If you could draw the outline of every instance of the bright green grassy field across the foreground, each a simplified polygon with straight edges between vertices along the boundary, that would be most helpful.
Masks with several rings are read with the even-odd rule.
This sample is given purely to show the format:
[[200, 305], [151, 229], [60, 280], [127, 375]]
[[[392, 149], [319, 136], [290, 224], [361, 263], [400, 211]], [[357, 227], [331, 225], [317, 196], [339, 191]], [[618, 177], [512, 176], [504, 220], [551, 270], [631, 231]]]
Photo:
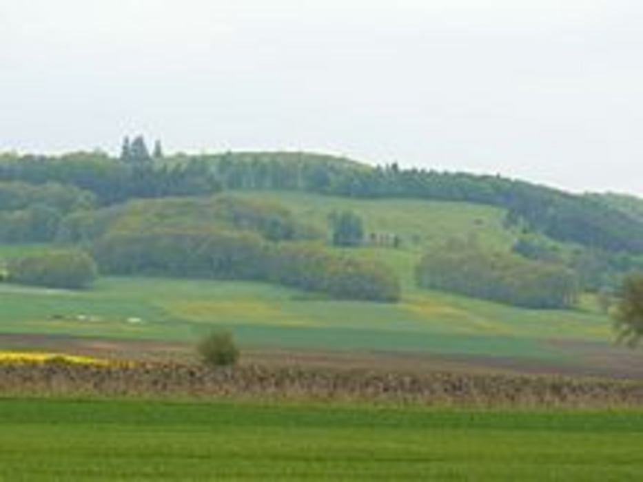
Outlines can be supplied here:
[[2, 480], [638, 481], [641, 412], [1, 399]]

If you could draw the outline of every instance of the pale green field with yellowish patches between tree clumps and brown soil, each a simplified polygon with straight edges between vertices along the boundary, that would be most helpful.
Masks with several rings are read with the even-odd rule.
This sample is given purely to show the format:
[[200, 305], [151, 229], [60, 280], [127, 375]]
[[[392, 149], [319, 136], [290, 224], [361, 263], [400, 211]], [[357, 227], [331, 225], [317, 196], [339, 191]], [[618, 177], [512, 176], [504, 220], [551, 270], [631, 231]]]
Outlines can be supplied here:
[[0, 331], [192, 342], [214, 326], [242, 347], [521, 357], [581, 362], [551, 339], [598, 346], [611, 322], [598, 313], [533, 311], [444, 293], [400, 304], [323, 300], [251, 282], [107, 277], [90, 291], [0, 284]]

